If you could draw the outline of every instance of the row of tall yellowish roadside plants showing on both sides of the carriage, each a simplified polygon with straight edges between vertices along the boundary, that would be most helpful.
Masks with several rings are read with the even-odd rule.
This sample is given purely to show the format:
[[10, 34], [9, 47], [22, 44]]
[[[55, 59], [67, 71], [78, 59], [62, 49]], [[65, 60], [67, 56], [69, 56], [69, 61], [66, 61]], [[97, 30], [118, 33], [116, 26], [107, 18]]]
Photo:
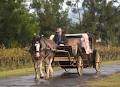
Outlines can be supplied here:
[[[120, 47], [96, 47], [103, 61], [120, 60]], [[22, 48], [0, 49], [0, 71], [33, 66], [31, 55]]]

